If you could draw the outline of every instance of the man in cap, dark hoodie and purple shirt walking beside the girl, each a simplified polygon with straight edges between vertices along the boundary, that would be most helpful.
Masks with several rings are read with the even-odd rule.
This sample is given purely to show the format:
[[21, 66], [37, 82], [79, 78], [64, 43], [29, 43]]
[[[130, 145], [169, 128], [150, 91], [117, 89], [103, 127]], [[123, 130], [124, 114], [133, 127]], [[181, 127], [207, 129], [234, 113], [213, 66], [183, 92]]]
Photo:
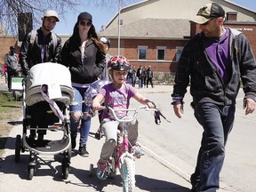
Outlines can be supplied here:
[[[216, 192], [225, 157], [228, 133], [236, 111], [240, 79], [244, 87], [245, 115], [255, 108], [256, 63], [247, 38], [223, 26], [219, 4], [206, 4], [191, 20], [202, 30], [185, 45], [178, 63], [172, 93], [174, 113], [183, 114], [183, 98], [190, 80], [196, 120], [203, 126], [192, 192]], [[193, 139], [193, 138], [191, 138]]]

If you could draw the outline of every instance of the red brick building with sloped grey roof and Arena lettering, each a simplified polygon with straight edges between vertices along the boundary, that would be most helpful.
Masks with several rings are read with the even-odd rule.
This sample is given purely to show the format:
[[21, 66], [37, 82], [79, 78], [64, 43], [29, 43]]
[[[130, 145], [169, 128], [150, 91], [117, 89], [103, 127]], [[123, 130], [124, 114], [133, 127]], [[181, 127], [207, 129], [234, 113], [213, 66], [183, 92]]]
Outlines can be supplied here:
[[184, 44], [199, 31], [189, 23], [204, 4], [220, 4], [227, 13], [225, 26], [241, 30], [256, 55], [256, 12], [226, 0], [148, 0], [125, 7], [110, 20], [100, 36], [108, 36], [111, 54], [124, 54], [138, 68], [152, 66], [154, 71], [175, 72]]

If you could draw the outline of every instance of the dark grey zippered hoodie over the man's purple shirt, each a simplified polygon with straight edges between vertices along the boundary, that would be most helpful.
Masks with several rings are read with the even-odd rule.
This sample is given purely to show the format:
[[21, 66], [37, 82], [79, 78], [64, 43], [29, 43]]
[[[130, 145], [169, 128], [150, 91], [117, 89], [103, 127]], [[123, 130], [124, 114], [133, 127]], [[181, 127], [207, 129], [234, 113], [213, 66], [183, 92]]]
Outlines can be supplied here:
[[229, 57], [231, 73], [224, 83], [209, 59], [202, 40], [202, 34], [194, 36], [185, 45], [176, 70], [173, 98], [184, 98], [189, 80], [193, 103], [212, 102], [218, 105], [236, 103], [236, 96], [243, 83], [244, 99], [256, 98], [256, 63], [246, 36], [236, 29], [230, 29]]

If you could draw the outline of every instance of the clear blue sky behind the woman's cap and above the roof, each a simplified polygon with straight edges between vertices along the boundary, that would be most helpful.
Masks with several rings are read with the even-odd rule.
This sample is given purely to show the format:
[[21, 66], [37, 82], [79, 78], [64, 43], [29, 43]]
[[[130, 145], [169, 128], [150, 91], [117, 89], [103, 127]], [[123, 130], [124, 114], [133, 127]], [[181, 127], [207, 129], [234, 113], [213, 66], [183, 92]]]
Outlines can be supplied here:
[[[229, 0], [235, 4], [239, 4], [256, 12], [256, 0]], [[113, 1], [114, 2], [114, 1]], [[96, 28], [96, 31], [99, 32], [101, 26], [108, 25], [108, 22], [112, 20], [118, 12], [118, 1], [115, 1], [116, 4], [112, 4], [110, 8], [107, 7], [96, 7], [94, 5], [88, 5], [87, 7], [80, 6], [77, 7], [77, 12], [67, 12], [65, 18], [61, 17], [60, 22], [57, 23], [54, 28], [54, 32], [57, 34], [72, 34], [74, 25], [77, 20], [77, 16], [80, 12], [90, 12], [92, 14], [92, 23]], [[130, 4], [136, 4], [143, 2], [143, 0], [132, 0]]]

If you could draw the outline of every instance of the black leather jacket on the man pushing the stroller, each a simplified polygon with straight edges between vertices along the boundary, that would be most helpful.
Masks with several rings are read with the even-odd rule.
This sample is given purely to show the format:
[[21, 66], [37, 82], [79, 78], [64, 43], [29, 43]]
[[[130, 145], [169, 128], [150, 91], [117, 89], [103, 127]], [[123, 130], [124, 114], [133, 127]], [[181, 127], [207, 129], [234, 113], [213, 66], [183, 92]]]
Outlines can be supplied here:
[[[44, 39], [41, 28], [36, 30], [37, 35], [34, 42], [30, 41], [31, 32], [25, 35], [20, 47], [20, 66], [22, 72], [27, 75], [29, 68], [43, 62], [60, 62], [61, 38], [57, 36], [57, 45], [53, 50], [52, 32]], [[42, 60], [42, 49], [46, 48], [44, 60]]]

